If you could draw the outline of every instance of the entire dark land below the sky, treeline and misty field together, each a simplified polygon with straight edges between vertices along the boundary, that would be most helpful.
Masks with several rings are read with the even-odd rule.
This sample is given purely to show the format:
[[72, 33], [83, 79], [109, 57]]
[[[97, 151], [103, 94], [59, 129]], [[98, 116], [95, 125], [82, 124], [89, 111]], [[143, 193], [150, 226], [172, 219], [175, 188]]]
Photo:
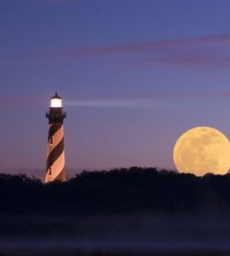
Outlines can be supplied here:
[[179, 250], [189, 255], [205, 250], [212, 255], [209, 249], [225, 254], [230, 251], [229, 188], [230, 175], [196, 177], [140, 167], [84, 171], [52, 184], [2, 174], [0, 253], [70, 249], [71, 255], [76, 250], [81, 250], [77, 255], [138, 250], [152, 255], [154, 250], [158, 255], [157, 250], [173, 255]]

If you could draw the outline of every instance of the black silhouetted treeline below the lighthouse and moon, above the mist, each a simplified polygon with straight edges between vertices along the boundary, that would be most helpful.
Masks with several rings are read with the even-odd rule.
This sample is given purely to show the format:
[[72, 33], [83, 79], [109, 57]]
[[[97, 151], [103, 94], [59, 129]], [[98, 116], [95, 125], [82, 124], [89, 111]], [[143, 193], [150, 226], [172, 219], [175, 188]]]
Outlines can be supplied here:
[[66, 183], [0, 175], [2, 213], [230, 212], [230, 175], [131, 167], [83, 171]]

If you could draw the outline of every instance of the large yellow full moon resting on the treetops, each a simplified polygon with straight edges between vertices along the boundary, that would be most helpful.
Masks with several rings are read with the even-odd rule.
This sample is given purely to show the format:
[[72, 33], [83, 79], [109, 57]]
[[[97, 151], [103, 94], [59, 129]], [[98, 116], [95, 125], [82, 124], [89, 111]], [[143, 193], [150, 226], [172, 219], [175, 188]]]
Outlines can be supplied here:
[[191, 128], [178, 138], [173, 161], [182, 173], [225, 175], [230, 167], [230, 142], [217, 129]]

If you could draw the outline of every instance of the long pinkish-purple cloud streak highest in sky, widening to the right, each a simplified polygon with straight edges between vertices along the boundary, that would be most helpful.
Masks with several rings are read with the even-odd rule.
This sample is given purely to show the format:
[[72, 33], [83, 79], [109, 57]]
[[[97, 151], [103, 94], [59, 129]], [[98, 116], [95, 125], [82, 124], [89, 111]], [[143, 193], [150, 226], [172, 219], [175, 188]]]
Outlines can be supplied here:
[[81, 49], [77, 46], [71, 49], [46, 49], [42, 54], [25, 53], [24, 59], [0, 59], [0, 66], [58, 63], [78, 61], [80, 58], [103, 59], [103, 56], [116, 56], [121, 60], [119, 63], [142, 66], [230, 67], [230, 35], [112, 44]]

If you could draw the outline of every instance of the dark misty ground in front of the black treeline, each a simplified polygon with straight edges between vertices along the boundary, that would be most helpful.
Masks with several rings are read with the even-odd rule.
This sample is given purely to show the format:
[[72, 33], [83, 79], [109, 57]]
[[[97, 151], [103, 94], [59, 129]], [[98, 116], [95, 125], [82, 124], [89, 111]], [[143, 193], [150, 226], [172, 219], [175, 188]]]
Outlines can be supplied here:
[[228, 216], [1, 216], [0, 230], [6, 255], [230, 255]]

